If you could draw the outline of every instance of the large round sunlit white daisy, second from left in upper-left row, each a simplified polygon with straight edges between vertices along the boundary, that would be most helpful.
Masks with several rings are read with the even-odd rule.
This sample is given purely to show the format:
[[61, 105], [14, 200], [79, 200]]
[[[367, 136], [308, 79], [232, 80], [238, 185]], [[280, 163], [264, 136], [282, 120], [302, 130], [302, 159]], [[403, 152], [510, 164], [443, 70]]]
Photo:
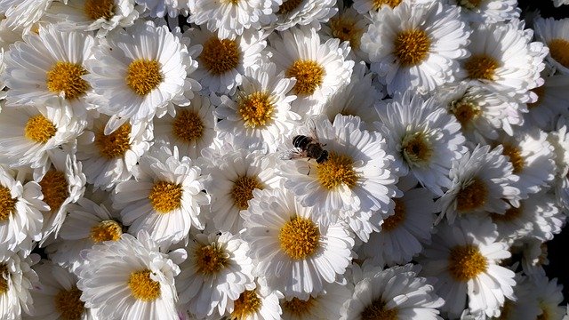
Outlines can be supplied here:
[[[173, 112], [173, 104], [188, 105], [194, 64], [185, 44], [166, 26], [136, 23], [106, 37], [85, 61], [85, 75], [96, 94], [100, 113], [111, 116], [105, 133], [121, 124], [147, 122]], [[112, 68], [110, 68], [112, 66]]]

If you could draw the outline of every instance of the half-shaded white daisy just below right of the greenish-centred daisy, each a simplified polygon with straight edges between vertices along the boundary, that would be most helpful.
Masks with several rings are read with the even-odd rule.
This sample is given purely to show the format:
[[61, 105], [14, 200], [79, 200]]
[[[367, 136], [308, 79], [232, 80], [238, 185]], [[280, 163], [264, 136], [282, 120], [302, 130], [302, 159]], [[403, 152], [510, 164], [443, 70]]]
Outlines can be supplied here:
[[477, 146], [453, 161], [449, 177], [453, 185], [437, 200], [441, 208], [435, 223], [446, 217], [453, 224], [456, 216], [475, 212], [502, 214], [510, 204], [518, 204], [520, 191], [514, 187], [519, 177], [502, 146]]

